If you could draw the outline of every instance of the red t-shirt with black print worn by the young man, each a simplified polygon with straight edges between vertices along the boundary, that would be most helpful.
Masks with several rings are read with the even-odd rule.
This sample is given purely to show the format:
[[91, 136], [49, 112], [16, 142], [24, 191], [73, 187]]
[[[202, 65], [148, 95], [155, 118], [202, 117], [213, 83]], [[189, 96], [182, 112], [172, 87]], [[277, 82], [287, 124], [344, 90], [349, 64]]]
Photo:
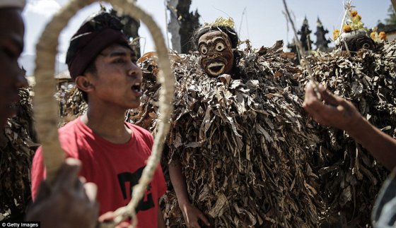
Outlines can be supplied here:
[[[98, 185], [100, 215], [114, 211], [131, 200], [132, 187], [138, 183], [146, 160], [151, 155], [153, 136], [144, 128], [125, 123], [132, 130], [128, 143], [114, 144], [95, 134], [80, 118], [59, 129], [59, 142], [66, 157], [81, 160], [80, 175]], [[42, 148], [33, 159], [32, 196], [45, 179]], [[161, 165], [158, 165], [146, 194], [137, 208], [139, 227], [157, 227], [158, 198], [166, 191]]]

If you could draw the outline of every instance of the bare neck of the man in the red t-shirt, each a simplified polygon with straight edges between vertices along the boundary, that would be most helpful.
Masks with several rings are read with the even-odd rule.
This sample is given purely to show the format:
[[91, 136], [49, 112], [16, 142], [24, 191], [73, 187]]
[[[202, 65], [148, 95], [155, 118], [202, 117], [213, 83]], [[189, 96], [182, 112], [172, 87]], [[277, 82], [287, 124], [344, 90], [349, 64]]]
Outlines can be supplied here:
[[88, 105], [88, 111], [81, 116], [81, 121], [111, 143], [127, 143], [131, 139], [132, 130], [125, 125], [125, 112], [114, 109], [103, 111], [90, 109]]

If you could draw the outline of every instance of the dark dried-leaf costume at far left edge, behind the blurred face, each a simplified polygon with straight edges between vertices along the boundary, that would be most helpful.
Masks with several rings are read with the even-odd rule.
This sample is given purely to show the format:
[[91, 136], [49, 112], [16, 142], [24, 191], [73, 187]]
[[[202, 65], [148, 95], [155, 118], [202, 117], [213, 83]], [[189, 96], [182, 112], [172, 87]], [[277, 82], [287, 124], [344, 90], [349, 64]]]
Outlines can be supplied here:
[[31, 89], [19, 90], [18, 114], [0, 132], [0, 220], [23, 220], [30, 203], [30, 168], [37, 148]]

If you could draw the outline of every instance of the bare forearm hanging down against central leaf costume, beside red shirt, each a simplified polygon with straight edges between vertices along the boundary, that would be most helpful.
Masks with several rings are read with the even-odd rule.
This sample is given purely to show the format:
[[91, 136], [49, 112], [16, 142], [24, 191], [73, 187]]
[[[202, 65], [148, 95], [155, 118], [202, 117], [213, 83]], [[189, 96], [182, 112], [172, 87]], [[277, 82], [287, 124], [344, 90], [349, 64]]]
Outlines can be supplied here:
[[198, 220], [202, 220], [206, 226], [209, 226], [209, 220], [205, 215], [190, 203], [185, 176], [182, 174], [180, 162], [169, 164], [169, 176], [173, 188], [175, 188], [177, 202], [179, 203], [180, 210], [182, 210], [187, 227], [199, 228]]

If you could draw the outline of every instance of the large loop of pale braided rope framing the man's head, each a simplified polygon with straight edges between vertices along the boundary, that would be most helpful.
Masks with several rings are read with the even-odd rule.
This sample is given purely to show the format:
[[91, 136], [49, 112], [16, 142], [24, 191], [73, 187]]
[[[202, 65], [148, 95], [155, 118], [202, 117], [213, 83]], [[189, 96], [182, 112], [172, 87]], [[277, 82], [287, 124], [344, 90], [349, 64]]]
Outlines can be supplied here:
[[[42, 143], [42, 150], [47, 167], [47, 179], [52, 182], [54, 176], [64, 161], [64, 152], [59, 144], [57, 134], [58, 109], [57, 102], [54, 100], [56, 86], [54, 83], [54, 60], [57, 55], [58, 37], [60, 32], [66, 27], [72, 16], [81, 8], [95, 2], [94, 0], [71, 0], [57, 13], [52, 21], [47, 24], [39, 42], [36, 46], [36, 68], [35, 68], [35, 97], [34, 111], [35, 121], [37, 122], [37, 133]], [[136, 225], [135, 208], [144, 196], [147, 185], [153, 178], [153, 174], [161, 160], [163, 141], [169, 131], [170, 114], [173, 112], [171, 104], [175, 79], [170, 70], [168, 59], [168, 49], [160, 28], [148, 13], [141, 10], [134, 4], [133, 0], [108, 0], [113, 4], [117, 11], [141, 20], [146, 24], [151, 32], [158, 54], [158, 64], [161, 73], [158, 74], [158, 82], [163, 86], [160, 91], [159, 112], [161, 113], [158, 132], [154, 139], [153, 152], [148, 157], [146, 167], [143, 170], [139, 184], [136, 184], [132, 192], [131, 202], [124, 208], [115, 211], [115, 220], [111, 224], [101, 224], [101, 227], [115, 227], [116, 224], [132, 215], [134, 225]], [[52, 64], [51, 64], [52, 63]]]

